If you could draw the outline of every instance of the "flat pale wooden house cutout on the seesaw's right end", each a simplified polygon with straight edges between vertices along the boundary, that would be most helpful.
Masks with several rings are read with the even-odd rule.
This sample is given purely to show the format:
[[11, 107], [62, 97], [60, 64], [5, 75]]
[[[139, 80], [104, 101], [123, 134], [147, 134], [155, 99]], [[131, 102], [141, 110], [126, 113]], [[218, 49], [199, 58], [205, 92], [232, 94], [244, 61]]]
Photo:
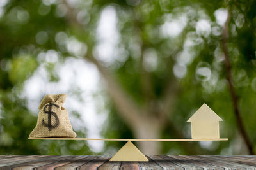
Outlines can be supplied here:
[[187, 121], [191, 122], [192, 139], [219, 139], [219, 121], [222, 119], [204, 103]]

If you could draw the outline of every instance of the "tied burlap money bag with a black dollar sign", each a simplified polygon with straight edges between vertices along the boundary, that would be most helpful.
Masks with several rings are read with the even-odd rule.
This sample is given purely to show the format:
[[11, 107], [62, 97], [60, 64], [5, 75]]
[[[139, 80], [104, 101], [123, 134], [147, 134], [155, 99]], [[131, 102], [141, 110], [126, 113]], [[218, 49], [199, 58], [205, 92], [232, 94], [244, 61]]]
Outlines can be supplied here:
[[29, 137], [76, 137], [68, 112], [62, 106], [66, 97], [66, 94], [47, 94], [44, 97], [38, 107], [36, 127]]

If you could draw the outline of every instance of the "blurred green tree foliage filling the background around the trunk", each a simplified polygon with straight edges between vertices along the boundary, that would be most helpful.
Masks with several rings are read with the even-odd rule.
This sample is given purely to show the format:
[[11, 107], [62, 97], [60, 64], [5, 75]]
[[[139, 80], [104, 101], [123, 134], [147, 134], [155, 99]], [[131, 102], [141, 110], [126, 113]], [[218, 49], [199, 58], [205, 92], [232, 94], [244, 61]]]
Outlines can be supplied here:
[[[65, 36], [84, 43], [86, 54], [95, 53], [100, 43], [97, 36], [99, 20], [108, 8], [116, 13], [119, 38], [115, 50], [118, 57], [104, 62], [104, 66], [116, 76], [136, 104], [151, 110], [154, 106], [148, 103], [161, 103], [168, 82], [173, 81], [179, 86], [168, 116], [172, 124], [162, 129], [161, 138], [180, 138], [180, 134], [190, 138], [186, 120], [202, 103], [211, 106], [224, 120], [220, 122], [220, 135], [227, 137], [227, 142], [214, 142], [209, 146], [204, 143], [161, 143], [163, 154], [248, 153], [237, 131], [225, 79], [224, 23], [221, 25], [218, 20], [223, 20], [227, 10], [230, 11], [228, 50], [232, 76], [241, 117], [256, 150], [256, 1], [12, 0], [1, 1], [0, 6], [1, 155], [95, 154], [83, 141], [28, 140], [36, 116], [29, 110], [22, 91], [26, 80], [43, 65], [49, 74], [49, 82], [60, 79], [55, 73], [56, 64], [40, 62], [40, 52], [55, 50], [60, 55], [60, 62], [70, 56], [74, 59], [83, 57], [79, 52], [68, 50]], [[216, 14], [221, 10], [224, 12]], [[57, 36], [60, 32], [65, 34]], [[144, 58], [142, 64], [141, 57]], [[149, 77], [146, 80], [143, 79], [145, 74]], [[143, 82], [150, 85], [152, 92], [146, 89], [143, 93]], [[104, 92], [102, 95], [108, 97]], [[102, 136], [134, 138], [131, 127], [125, 124], [108, 98], [105, 110], [109, 114]], [[148, 102], [148, 98], [154, 102]], [[77, 120], [81, 117], [75, 112], [69, 113], [74, 113]], [[86, 137], [86, 129], [76, 129], [76, 133], [79, 138]], [[124, 143], [106, 142], [102, 153], [122, 145]]]

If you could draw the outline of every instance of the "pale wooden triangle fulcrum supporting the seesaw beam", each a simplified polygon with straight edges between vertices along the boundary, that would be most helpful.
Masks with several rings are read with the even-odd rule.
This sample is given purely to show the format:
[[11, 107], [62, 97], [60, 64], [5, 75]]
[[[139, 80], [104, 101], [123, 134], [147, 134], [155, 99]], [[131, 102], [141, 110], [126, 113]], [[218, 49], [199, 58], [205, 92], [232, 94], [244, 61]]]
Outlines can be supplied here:
[[128, 141], [109, 161], [148, 162], [148, 159], [131, 141]]

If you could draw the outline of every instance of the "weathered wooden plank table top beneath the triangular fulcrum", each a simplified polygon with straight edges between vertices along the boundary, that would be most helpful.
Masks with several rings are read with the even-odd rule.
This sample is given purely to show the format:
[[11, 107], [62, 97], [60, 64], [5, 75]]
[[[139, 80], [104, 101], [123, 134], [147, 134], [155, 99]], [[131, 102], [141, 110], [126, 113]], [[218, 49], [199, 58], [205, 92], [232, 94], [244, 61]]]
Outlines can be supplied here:
[[256, 156], [147, 156], [149, 162], [109, 162], [108, 156], [1, 155], [0, 169], [256, 169]]

